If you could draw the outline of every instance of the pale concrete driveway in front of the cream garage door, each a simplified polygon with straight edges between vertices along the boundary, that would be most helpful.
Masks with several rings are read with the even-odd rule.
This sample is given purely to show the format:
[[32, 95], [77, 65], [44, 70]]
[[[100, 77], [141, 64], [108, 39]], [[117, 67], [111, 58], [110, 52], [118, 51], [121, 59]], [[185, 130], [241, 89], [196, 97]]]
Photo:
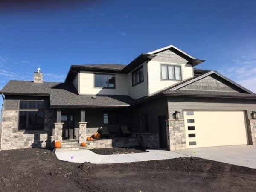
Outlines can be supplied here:
[[256, 145], [192, 148], [175, 152], [256, 169]]

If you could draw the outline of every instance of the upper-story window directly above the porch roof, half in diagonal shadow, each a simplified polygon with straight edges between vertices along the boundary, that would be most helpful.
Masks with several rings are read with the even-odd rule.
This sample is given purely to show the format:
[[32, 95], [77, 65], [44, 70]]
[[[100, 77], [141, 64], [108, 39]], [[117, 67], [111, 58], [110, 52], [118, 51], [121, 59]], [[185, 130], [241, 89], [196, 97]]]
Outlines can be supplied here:
[[113, 74], [94, 73], [94, 87], [116, 88], [116, 76]]

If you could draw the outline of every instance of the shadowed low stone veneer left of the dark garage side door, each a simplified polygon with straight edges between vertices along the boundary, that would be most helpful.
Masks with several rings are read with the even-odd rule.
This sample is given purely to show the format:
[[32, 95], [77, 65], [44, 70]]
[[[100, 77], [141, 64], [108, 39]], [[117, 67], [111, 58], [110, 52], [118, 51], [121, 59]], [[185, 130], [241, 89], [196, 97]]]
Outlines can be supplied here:
[[139, 140], [139, 145], [148, 148], [159, 148], [159, 134], [132, 133]]

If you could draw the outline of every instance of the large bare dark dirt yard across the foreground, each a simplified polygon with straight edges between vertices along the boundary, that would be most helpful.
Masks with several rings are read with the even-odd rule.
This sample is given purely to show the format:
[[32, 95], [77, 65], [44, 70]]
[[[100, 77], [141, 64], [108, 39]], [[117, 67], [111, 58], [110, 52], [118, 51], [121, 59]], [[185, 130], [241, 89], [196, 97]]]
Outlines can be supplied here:
[[0, 151], [0, 191], [255, 191], [256, 169], [198, 158], [93, 165], [46, 149]]

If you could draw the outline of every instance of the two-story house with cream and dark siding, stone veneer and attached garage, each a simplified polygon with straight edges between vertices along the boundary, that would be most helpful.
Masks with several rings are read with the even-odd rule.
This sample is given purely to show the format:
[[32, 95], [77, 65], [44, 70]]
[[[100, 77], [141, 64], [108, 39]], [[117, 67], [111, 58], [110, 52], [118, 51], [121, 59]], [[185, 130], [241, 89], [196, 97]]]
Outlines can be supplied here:
[[61, 83], [44, 82], [40, 71], [34, 81], [9, 81], [0, 91], [1, 150], [81, 143], [101, 126], [117, 136], [128, 126], [149, 148], [255, 145], [256, 95], [194, 68], [202, 62], [170, 45], [128, 65], [72, 65]]

